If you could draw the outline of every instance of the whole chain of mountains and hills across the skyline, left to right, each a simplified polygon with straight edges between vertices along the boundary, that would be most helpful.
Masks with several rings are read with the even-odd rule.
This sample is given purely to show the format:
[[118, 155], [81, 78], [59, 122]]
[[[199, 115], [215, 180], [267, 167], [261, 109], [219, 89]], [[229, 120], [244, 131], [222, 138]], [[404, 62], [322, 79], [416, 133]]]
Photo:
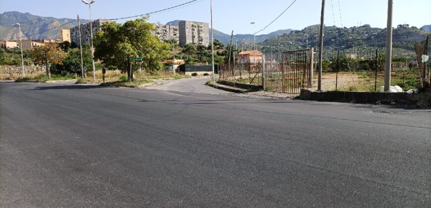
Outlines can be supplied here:
[[[77, 21], [70, 18], [54, 18], [54, 17], [42, 17], [33, 15], [30, 13], [21, 13], [18, 11], [6, 11], [0, 14], [0, 40], [2, 39], [17, 39], [22, 35], [32, 35], [29, 39], [58, 39], [60, 29], [70, 29], [77, 25]], [[72, 21], [72, 22], [71, 22]], [[167, 22], [167, 25], [178, 25], [181, 20], [174, 20]], [[70, 22], [70, 23], [68, 23]], [[87, 23], [87, 20], [81, 20], [80, 23]], [[15, 25], [16, 23], [21, 24], [21, 31]], [[68, 23], [68, 24], [66, 24]], [[64, 25], [63, 25], [64, 24]], [[61, 27], [58, 27], [62, 25]], [[52, 30], [51, 28], [58, 27]], [[47, 32], [43, 32], [49, 30]], [[324, 41], [325, 45], [331, 45], [332, 40], [343, 40], [343, 46], [350, 48], [353, 45], [356, 46], [375, 46], [384, 47], [385, 29], [372, 28], [370, 25], [364, 25], [361, 27], [352, 28], [336, 28], [336, 27], [325, 27]], [[428, 32], [427, 32], [428, 31]], [[411, 47], [412, 41], [418, 41], [424, 39], [424, 37], [431, 31], [431, 25], [425, 25], [420, 29], [415, 27], [409, 27], [407, 25], [399, 25], [394, 30], [394, 48], [408, 48]], [[309, 35], [309, 44], [316, 44], [315, 38], [318, 34], [318, 25], [312, 25], [304, 28], [303, 30], [277, 30], [268, 34], [257, 35], [256, 43], [265, 47], [265, 50], [270, 49], [270, 45], [275, 45], [277, 42], [277, 36], [279, 36], [279, 45], [291, 46], [296, 49], [298, 47], [306, 47], [306, 38]], [[338, 34], [338, 35], [337, 35]], [[211, 37], [211, 31], [210, 31]], [[229, 44], [230, 35], [214, 30], [214, 38], [224, 44]], [[27, 39], [27, 38], [24, 38]], [[341, 42], [341, 41], [340, 41]], [[253, 34], [237, 34], [234, 35], [232, 40], [233, 44], [250, 46], [254, 43]], [[408, 45], [408, 46], [407, 46]]]

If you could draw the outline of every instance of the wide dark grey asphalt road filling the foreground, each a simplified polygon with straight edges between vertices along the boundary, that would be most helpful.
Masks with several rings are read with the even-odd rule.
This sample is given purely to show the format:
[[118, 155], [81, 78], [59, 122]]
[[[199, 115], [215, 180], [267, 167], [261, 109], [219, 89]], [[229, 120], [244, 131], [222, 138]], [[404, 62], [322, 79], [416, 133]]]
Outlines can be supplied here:
[[0, 83], [0, 207], [430, 207], [429, 109], [206, 81]]

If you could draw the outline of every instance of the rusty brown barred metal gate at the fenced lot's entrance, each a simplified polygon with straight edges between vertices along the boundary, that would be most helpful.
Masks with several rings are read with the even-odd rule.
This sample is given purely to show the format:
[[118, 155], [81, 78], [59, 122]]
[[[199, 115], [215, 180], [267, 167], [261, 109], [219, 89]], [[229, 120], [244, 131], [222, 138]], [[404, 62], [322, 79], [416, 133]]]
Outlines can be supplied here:
[[[281, 63], [265, 62], [264, 89], [278, 93], [299, 94], [311, 87], [313, 50], [283, 52]], [[311, 73], [310, 73], [311, 72]]]

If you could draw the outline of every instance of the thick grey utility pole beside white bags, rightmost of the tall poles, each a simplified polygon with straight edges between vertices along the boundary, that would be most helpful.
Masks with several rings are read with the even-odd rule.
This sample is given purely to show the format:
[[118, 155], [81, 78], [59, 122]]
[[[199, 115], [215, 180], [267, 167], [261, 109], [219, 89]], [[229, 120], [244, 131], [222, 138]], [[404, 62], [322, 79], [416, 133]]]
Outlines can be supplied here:
[[393, 0], [387, 0], [387, 27], [386, 27], [386, 61], [384, 65], [384, 88], [389, 91], [390, 71], [392, 64], [392, 4]]

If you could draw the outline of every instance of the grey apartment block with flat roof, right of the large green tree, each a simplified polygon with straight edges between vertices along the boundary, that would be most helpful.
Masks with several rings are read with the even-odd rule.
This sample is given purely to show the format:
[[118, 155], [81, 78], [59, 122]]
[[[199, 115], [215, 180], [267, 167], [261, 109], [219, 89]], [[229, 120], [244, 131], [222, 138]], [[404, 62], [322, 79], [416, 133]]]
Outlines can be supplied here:
[[180, 21], [178, 22], [179, 44], [210, 44], [210, 33], [207, 22]]

